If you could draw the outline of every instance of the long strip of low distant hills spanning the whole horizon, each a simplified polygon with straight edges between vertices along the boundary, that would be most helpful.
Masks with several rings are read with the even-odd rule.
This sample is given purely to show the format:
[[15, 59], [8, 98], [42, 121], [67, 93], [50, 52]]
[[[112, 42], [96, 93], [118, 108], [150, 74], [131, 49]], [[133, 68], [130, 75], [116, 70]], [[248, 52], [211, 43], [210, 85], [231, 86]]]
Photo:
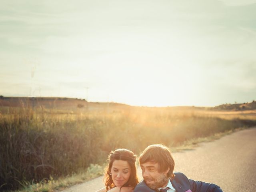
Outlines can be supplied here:
[[[44, 108], [58, 108], [74, 110], [77, 108], [101, 110], [102, 108], [111, 107], [117, 108], [131, 108], [133, 106], [120, 104], [115, 102], [87, 102], [85, 99], [66, 98], [66, 97], [4, 97], [0, 96], [0, 106], [10, 107], [44, 107]], [[148, 108], [148, 107], [142, 107]], [[160, 108], [160, 107], [159, 107]], [[165, 107], [164, 107], [165, 108]], [[255, 110], [256, 101], [251, 103], [240, 104], [222, 104], [215, 107], [195, 107], [195, 106], [173, 106], [167, 107], [173, 110]]]

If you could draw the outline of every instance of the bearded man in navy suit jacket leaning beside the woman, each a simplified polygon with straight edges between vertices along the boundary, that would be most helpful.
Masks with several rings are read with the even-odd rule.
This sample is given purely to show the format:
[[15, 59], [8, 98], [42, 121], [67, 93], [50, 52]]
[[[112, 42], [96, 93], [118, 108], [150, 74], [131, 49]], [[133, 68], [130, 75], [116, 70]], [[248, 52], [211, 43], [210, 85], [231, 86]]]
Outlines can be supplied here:
[[148, 146], [140, 155], [142, 180], [134, 192], [222, 192], [215, 184], [188, 179], [173, 172], [174, 160], [170, 150], [161, 144]]

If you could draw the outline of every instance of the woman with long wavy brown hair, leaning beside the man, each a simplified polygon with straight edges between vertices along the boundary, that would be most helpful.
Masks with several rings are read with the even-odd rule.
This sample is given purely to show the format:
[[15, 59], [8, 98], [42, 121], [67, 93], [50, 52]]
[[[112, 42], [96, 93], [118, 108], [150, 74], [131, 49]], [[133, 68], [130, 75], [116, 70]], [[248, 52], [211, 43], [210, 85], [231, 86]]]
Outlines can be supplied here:
[[127, 149], [111, 151], [104, 182], [106, 187], [97, 192], [133, 192], [138, 184], [136, 155]]

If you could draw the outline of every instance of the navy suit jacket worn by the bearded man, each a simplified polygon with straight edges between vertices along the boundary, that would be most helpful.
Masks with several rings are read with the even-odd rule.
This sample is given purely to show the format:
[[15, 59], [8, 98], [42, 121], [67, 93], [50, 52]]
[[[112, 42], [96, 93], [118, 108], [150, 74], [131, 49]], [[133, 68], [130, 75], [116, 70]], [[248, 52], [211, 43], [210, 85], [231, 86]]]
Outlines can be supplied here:
[[[221, 188], [215, 184], [188, 179], [186, 175], [180, 172], [174, 172], [174, 175], [174, 179], [171, 179], [170, 181], [176, 192], [222, 192]], [[144, 180], [142, 180], [134, 189], [134, 192], [156, 191], [158, 190], [150, 189]]]

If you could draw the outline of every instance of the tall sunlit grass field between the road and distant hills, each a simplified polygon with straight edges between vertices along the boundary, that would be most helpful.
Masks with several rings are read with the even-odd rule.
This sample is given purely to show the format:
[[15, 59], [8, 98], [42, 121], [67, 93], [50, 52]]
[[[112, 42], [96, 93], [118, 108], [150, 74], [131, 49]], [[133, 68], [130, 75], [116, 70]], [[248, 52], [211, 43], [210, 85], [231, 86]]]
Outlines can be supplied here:
[[1, 108], [0, 190], [85, 170], [104, 162], [116, 148], [138, 154], [149, 144], [177, 146], [192, 138], [253, 125], [255, 120], [154, 108], [90, 113]]

